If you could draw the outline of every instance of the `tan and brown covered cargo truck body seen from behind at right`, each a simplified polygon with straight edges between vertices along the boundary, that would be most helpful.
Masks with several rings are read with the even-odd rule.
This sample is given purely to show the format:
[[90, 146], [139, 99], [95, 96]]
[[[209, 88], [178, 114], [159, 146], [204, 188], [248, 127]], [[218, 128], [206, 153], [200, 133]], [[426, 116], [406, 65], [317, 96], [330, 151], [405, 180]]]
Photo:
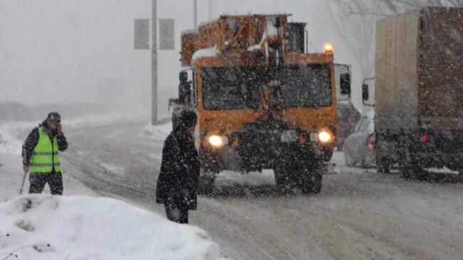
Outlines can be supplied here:
[[462, 175], [463, 9], [379, 21], [375, 66], [378, 171], [398, 163], [406, 178], [443, 166]]

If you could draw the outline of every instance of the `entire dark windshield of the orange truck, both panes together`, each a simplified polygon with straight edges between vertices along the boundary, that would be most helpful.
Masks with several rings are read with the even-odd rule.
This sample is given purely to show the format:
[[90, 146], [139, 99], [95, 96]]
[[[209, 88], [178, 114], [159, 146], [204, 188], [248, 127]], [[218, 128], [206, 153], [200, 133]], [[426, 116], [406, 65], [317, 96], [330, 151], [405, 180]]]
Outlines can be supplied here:
[[[331, 105], [328, 64], [284, 67], [276, 73], [264, 67], [206, 67], [201, 70], [205, 109], [258, 109], [260, 87], [271, 78], [282, 88], [284, 107]], [[275, 84], [272, 82], [272, 84]]]

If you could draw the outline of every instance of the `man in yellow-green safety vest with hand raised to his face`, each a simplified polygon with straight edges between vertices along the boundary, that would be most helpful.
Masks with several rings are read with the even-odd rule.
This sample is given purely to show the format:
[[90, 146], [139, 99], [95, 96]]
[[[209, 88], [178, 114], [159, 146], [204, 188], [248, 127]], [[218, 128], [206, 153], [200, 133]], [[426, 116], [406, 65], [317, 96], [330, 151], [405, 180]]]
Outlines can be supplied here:
[[28, 171], [31, 186], [29, 193], [41, 193], [46, 183], [53, 195], [63, 195], [63, 176], [59, 151], [68, 148], [61, 129], [61, 116], [51, 112], [31, 131], [23, 144], [23, 170]]

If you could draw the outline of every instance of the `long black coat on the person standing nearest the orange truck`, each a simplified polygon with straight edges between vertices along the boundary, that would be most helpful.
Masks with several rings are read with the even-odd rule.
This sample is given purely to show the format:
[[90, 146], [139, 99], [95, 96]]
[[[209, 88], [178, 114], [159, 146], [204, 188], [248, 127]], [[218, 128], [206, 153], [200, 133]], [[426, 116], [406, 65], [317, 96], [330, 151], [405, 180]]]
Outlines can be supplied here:
[[200, 167], [193, 136], [181, 126], [177, 127], [164, 141], [156, 202], [173, 201], [188, 210], [196, 210]]

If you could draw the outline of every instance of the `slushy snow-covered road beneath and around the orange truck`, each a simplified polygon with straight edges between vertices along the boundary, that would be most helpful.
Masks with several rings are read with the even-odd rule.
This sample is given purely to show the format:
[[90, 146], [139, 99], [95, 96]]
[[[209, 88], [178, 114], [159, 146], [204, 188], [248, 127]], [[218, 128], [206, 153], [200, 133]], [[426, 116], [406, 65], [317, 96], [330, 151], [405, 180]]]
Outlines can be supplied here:
[[[65, 174], [164, 215], [154, 187], [169, 127], [152, 136], [142, 134], [145, 125], [70, 129]], [[221, 173], [216, 193], [199, 198], [191, 224], [206, 229], [230, 259], [461, 259], [462, 183], [349, 168], [341, 153], [333, 162], [319, 195], [275, 193], [271, 170]]]

